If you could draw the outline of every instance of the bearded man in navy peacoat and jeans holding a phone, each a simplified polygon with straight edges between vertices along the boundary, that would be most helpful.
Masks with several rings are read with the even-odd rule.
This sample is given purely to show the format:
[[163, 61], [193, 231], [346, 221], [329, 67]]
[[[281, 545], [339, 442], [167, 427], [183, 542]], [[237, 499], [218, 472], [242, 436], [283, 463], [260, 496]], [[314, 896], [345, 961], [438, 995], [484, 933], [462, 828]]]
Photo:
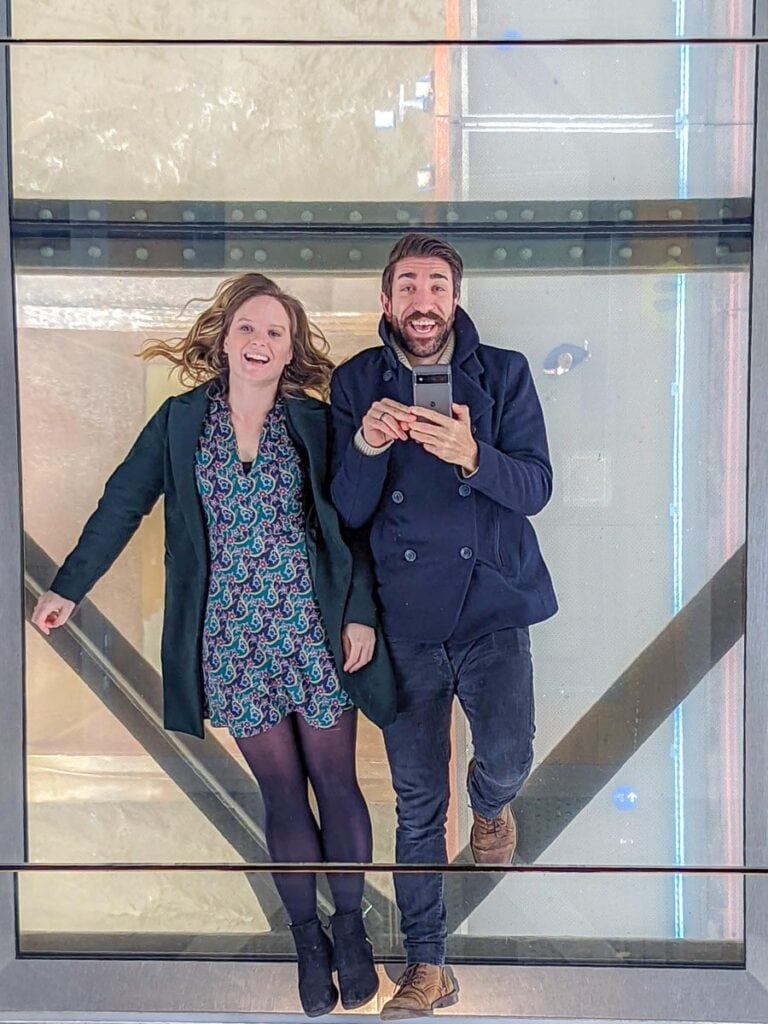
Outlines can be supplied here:
[[[332, 492], [370, 528], [384, 632], [398, 685], [385, 729], [397, 794], [398, 863], [446, 859], [451, 716], [472, 730], [467, 786], [478, 863], [509, 863], [509, 806], [532, 760], [527, 627], [557, 610], [527, 516], [552, 493], [541, 407], [519, 352], [480, 344], [459, 306], [463, 264], [445, 242], [407, 234], [382, 276], [383, 346], [332, 382]], [[453, 417], [413, 407], [413, 369], [450, 364]], [[418, 414], [418, 416], [417, 416]], [[395, 876], [408, 967], [384, 1019], [458, 1000], [444, 966], [441, 874]]]

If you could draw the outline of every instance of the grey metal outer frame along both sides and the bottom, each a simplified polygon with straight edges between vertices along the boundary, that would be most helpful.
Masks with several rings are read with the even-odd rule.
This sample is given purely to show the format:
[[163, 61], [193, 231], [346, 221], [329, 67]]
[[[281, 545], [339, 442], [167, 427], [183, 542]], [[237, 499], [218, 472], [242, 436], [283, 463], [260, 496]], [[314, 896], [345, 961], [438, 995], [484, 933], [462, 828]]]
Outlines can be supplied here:
[[[0, 31], [7, 30], [0, 13]], [[768, 30], [760, 0], [758, 32]], [[7, 59], [3, 46], [0, 118], [7, 128]], [[768, 124], [768, 47], [759, 47], [757, 123]], [[7, 133], [0, 131], [0, 194], [7, 201]], [[768, 132], [756, 129], [753, 338], [751, 353], [748, 611], [746, 611], [746, 858], [768, 864]], [[13, 332], [13, 274], [7, 202], [0, 206], [0, 856], [24, 855], [24, 710], [22, 522], [18, 411]], [[13, 765], [15, 770], [6, 766]], [[768, 880], [746, 884], [744, 970], [686, 968], [465, 967], [462, 1014], [552, 1020], [764, 1022], [768, 1014]], [[291, 1015], [298, 1010], [290, 964], [17, 959], [13, 883], [0, 873], [0, 1019], [10, 1021], [203, 1019], [215, 1014]], [[284, 1018], [285, 1019], [285, 1018]], [[303, 1018], [296, 1018], [303, 1019]]]

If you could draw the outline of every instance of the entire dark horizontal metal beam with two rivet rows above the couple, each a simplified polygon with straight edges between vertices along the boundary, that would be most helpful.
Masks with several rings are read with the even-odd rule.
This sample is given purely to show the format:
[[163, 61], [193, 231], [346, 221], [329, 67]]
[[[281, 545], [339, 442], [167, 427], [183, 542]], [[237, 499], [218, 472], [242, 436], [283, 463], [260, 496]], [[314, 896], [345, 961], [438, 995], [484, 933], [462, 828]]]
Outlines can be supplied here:
[[748, 268], [749, 198], [541, 203], [16, 200], [18, 269], [378, 273], [394, 240], [454, 242], [470, 272]]

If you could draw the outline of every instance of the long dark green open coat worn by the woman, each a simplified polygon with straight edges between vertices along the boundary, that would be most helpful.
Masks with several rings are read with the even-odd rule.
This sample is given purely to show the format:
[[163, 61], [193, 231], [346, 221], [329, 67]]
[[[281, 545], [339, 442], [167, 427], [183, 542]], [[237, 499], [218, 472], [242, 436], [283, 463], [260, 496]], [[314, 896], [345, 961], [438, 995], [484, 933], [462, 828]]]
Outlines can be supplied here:
[[[208, 410], [209, 385], [169, 398], [115, 470], [98, 506], [51, 590], [79, 602], [135, 532], [142, 516], [165, 497], [165, 611], [163, 696], [167, 729], [203, 735], [202, 639], [208, 592], [208, 545], [195, 479], [195, 456]], [[395, 684], [386, 644], [377, 629], [376, 654], [365, 669], [342, 669], [346, 623], [376, 626], [374, 582], [367, 546], [354, 558], [344, 543], [329, 481], [329, 407], [315, 398], [285, 399], [289, 433], [306, 474], [306, 541], [314, 591], [342, 685], [377, 725], [393, 721]]]

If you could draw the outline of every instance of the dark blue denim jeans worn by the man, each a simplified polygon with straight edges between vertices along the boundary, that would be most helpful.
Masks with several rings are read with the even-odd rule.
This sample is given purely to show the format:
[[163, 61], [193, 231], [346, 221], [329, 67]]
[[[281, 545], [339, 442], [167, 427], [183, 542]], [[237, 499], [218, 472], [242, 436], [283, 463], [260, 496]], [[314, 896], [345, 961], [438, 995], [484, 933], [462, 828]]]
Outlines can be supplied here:
[[[534, 758], [534, 673], [527, 629], [506, 629], [468, 643], [389, 638], [398, 714], [384, 730], [397, 794], [396, 859], [444, 863], [454, 695], [472, 730], [468, 780], [473, 810], [494, 818], [525, 780]], [[409, 964], [443, 964], [441, 874], [395, 874]]]

